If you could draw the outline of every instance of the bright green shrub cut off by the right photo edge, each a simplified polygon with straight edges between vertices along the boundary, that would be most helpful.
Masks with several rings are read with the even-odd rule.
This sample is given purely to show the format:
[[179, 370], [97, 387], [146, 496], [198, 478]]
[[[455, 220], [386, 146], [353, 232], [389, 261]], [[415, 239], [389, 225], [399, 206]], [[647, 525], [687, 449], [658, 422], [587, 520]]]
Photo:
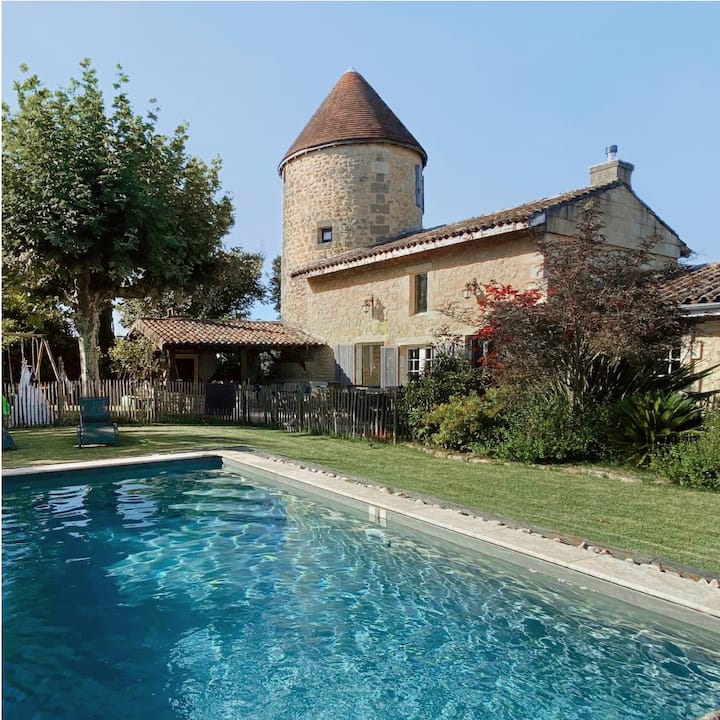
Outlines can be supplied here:
[[677, 485], [720, 490], [720, 410], [692, 437], [657, 450], [650, 466]]

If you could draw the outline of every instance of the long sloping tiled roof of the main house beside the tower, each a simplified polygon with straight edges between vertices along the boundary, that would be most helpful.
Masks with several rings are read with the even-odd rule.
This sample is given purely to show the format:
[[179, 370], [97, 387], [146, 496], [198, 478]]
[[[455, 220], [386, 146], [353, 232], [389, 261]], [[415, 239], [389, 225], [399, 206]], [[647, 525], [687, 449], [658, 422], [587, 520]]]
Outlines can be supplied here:
[[[524, 203], [523, 205], [517, 205], [516, 207], [507, 208], [505, 210], [498, 210], [497, 212], [480, 215], [478, 217], [470, 218], [469, 220], [462, 220], [449, 225], [441, 225], [437, 228], [423, 230], [412, 235], [405, 235], [401, 238], [390, 240], [389, 242], [383, 242], [371, 247], [349, 250], [331, 258], [313, 263], [312, 265], [308, 265], [304, 268], [300, 268], [293, 273], [293, 276], [303, 275], [314, 270], [333, 267], [335, 265], [342, 265], [343, 263], [353, 260], [363, 260], [365, 258], [381, 256], [393, 250], [429, 245], [430, 243], [438, 240], [475, 233], [480, 230], [489, 230], [491, 228], [502, 227], [503, 225], [511, 226], [514, 223], [529, 222], [539, 213], [559, 207], [569, 202], [576, 202], [577, 200], [589, 198], [598, 193], [605, 192], [606, 190], [620, 187], [622, 185], [623, 183], [618, 180], [606, 185], [585, 187], [580, 188], [579, 190], [570, 190], [569, 192], [562, 193], [561, 195], [554, 195], [549, 198], [535, 200], [533, 202]], [[510, 228], [508, 228], [508, 230], [509, 229]]]

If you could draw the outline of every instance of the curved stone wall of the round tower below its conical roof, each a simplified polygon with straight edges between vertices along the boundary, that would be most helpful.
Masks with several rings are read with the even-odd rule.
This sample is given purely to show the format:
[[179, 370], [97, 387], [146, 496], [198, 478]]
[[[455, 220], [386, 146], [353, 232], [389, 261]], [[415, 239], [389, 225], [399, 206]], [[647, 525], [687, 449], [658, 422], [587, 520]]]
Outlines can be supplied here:
[[[282, 316], [303, 327], [303, 298], [291, 289], [299, 267], [386, 237], [419, 230], [418, 153], [390, 144], [340, 145], [297, 157], [283, 169]], [[318, 231], [331, 227], [321, 243]]]

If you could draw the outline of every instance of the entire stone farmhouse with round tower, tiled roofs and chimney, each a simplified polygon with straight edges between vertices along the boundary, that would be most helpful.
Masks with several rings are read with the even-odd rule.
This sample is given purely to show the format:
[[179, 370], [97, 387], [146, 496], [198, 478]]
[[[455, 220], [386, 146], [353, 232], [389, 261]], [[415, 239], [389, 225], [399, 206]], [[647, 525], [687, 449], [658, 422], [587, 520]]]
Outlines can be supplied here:
[[[431, 359], [440, 327], [465, 338], [469, 354], [482, 352], [473, 339], [477, 327], [460, 319], [478, 285], [495, 280], [542, 288], [538, 237], [574, 236], [588, 200], [602, 212], [608, 243], [633, 247], [657, 236], [659, 261], [689, 256], [677, 233], [636, 195], [633, 165], [616, 152], [608, 148], [606, 161], [590, 168], [585, 187], [423, 229], [427, 153], [368, 82], [349, 70], [278, 168], [282, 321], [276, 327], [223, 323], [222, 347], [245, 358], [243, 379], [252, 379], [260, 350], [282, 349], [288, 380], [405, 384]], [[672, 292], [701, 321], [682, 352], [720, 362], [718, 268], [688, 271]], [[450, 318], [441, 312], [447, 307], [460, 312]], [[242, 331], [233, 334], [233, 326]], [[176, 377], [211, 377], [219, 321], [144, 319], [134, 330], [174, 349], [184, 363], [182, 370], [176, 363]], [[720, 386], [720, 377], [716, 381]]]

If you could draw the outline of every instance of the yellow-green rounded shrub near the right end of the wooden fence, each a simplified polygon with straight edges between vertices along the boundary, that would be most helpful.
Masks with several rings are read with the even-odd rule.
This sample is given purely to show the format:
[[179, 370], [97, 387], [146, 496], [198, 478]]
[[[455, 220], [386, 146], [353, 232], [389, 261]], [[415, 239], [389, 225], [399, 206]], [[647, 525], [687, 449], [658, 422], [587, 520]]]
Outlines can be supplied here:
[[417, 437], [430, 445], [470, 450], [492, 432], [494, 416], [494, 406], [486, 397], [456, 395], [423, 416]]

